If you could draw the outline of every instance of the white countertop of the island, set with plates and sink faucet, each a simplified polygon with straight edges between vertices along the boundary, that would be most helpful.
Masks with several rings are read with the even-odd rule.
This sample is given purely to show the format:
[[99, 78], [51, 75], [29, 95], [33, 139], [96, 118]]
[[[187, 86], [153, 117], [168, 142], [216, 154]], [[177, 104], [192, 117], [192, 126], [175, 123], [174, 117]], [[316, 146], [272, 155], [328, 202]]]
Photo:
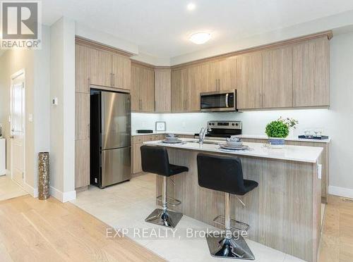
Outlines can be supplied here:
[[[154, 146], [164, 146], [174, 149], [185, 149], [191, 151], [203, 151], [216, 154], [227, 154], [235, 156], [253, 156], [258, 158], [272, 158], [286, 161], [299, 161], [307, 163], [316, 163], [323, 151], [322, 147], [313, 146], [289, 146], [286, 145], [283, 149], [270, 149], [261, 143], [246, 143], [249, 146], [248, 150], [239, 151], [224, 151], [220, 149], [218, 144], [198, 144], [196, 139], [181, 139], [183, 144], [165, 144], [161, 141], [144, 142]], [[210, 141], [210, 140], [208, 140]], [[215, 141], [217, 142], [217, 141]], [[218, 141], [219, 142], [219, 141]]]

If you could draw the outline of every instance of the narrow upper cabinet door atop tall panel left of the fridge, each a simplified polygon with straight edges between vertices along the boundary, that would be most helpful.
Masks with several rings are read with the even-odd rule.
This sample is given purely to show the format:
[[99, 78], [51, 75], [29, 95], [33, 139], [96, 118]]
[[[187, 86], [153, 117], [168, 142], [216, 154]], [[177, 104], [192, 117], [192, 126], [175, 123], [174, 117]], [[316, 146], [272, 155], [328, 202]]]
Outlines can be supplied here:
[[75, 91], [90, 92], [90, 49], [87, 46], [76, 44], [75, 51]]

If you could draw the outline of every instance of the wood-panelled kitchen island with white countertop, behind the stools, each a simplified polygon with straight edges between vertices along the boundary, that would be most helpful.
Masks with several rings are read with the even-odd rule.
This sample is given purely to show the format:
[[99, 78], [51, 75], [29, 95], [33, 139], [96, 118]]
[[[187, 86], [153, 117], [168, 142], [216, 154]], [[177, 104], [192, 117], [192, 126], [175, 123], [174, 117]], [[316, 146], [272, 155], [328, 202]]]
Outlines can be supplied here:
[[[259, 185], [240, 197], [246, 207], [231, 195], [232, 218], [251, 226], [249, 239], [253, 241], [306, 261], [317, 260], [321, 231], [318, 165], [322, 148], [269, 149], [260, 143], [244, 143], [250, 150], [229, 152], [210, 141], [200, 145], [195, 139], [183, 140], [186, 143], [145, 142], [166, 147], [170, 163], [189, 168], [189, 172], [173, 177], [174, 183], [168, 182], [168, 196], [182, 202], [174, 210], [215, 225], [213, 218], [225, 212], [225, 194], [198, 186], [196, 156], [199, 152], [239, 156], [244, 178]], [[157, 176], [157, 195], [161, 193], [161, 182]]]

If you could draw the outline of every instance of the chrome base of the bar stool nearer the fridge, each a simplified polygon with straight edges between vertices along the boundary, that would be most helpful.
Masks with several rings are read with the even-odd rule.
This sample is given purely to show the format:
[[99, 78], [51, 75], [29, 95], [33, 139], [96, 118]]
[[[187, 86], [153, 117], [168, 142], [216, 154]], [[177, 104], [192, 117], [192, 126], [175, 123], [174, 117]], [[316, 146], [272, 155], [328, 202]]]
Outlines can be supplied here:
[[145, 222], [174, 228], [177, 226], [182, 217], [182, 213], [170, 210], [163, 211], [161, 208], [156, 208], [152, 213], [150, 213], [150, 216], [145, 219]]

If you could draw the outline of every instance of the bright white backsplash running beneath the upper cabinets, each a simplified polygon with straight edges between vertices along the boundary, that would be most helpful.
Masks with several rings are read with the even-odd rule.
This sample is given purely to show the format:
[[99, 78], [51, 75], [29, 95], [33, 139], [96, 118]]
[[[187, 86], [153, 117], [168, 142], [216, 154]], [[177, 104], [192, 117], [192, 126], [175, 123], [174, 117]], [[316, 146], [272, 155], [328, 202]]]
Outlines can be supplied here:
[[232, 113], [132, 113], [132, 130], [152, 129], [155, 130], [155, 121], [165, 121], [167, 131], [198, 132], [204, 127], [208, 120], [241, 120], [243, 123], [243, 134], [265, 135], [265, 125], [280, 117], [295, 118], [299, 125], [292, 136], [302, 135], [304, 130], [321, 129], [323, 135], [330, 135], [328, 123], [333, 117], [333, 111], [328, 109], [298, 109], [298, 110], [275, 110], [275, 111], [248, 111]]

